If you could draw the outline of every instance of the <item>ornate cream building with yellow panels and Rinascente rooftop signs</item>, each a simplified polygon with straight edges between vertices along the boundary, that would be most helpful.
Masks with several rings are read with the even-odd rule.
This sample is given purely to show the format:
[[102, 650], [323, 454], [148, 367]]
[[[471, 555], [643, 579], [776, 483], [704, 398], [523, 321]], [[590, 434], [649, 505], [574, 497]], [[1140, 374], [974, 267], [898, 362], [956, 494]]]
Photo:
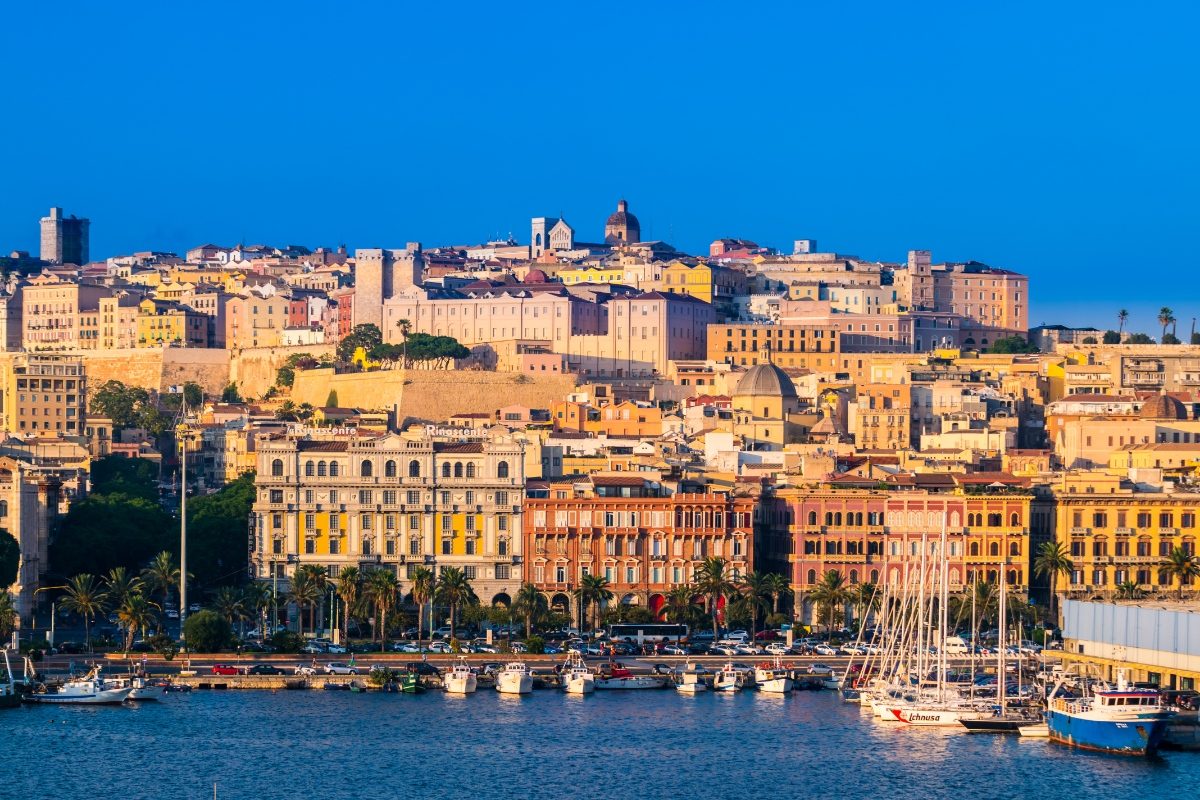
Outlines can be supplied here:
[[521, 444], [310, 432], [264, 437], [257, 450], [254, 577], [370, 564], [407, 590], [430, 565], [462, 569], [485, 603], [520, 589]]

